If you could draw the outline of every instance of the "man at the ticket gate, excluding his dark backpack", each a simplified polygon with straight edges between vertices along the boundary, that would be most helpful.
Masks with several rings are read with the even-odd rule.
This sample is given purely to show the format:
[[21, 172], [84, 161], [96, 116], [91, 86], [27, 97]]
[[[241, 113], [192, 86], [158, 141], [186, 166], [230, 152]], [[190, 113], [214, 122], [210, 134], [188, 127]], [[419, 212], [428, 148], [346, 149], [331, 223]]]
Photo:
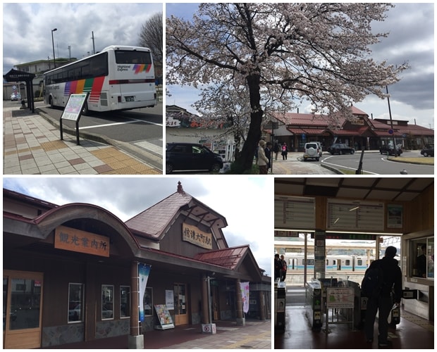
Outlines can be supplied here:
[[367, 342], [374, 340], [374, 323], [376, 311], [378, 313], [378, 346], [388, 346], [388, 315], [393, 306], [391, 298], [394, 291], [395, 303], [400, 304], [402, 297], [402, 272], [400, 271], [398, 260], [395, 260], [396, 248], [388, 246], [385, 256], [382, 259], [374, 260], [367, 270], [380, 265], [383, 272], [383, 287], [381, 294], [376, 297], [370, 297], [367, 301], [366, 321], [364, 332], [366, 333]]

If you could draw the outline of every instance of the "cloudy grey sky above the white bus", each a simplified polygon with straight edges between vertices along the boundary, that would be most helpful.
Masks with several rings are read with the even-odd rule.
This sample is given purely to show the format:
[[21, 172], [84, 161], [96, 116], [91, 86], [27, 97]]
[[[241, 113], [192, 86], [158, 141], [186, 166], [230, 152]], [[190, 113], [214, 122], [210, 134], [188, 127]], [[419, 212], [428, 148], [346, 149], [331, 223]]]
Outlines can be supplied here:
[[113, 44], [138, 45], [141, 26], [155, 13], [156, 4], [3, 4], [3, 73], [13, 65], [53, 59], [82, 58]]

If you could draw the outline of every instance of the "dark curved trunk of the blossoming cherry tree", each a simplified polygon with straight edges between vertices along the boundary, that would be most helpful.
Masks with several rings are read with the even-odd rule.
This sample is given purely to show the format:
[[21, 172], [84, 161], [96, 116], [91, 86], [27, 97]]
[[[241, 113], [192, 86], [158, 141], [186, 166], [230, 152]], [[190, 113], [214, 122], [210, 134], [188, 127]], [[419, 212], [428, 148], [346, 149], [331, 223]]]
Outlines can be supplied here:
[[259, 139], [261, 139], [261, 121], [263, 111], [261, 110], [261, 95], [259, 94], [259, 75], [253, 74], [247, 77], [249, 87], [250, 106], [250, 125], [247, 132], [247, 139], [242, 146], [240, 156], [235, 160], [234, 170], [244, 173], [251, 170], [254, 160], [254, 153], [257, 149]]

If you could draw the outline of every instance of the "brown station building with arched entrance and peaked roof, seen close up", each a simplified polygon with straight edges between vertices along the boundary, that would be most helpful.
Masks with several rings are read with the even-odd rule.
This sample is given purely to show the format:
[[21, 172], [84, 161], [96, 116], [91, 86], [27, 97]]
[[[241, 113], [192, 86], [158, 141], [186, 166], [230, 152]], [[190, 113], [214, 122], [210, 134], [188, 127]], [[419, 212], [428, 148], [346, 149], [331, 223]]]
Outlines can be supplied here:
[[250, 246], [228, 246], [226, 218], [180, 182], [126, 222], [92, 204], [58, 206], [8, 189], [3, 201], [4, 348], [121, 335], [143, 348], [147, 331], [171, 324], [271, 318], [271, 277]]

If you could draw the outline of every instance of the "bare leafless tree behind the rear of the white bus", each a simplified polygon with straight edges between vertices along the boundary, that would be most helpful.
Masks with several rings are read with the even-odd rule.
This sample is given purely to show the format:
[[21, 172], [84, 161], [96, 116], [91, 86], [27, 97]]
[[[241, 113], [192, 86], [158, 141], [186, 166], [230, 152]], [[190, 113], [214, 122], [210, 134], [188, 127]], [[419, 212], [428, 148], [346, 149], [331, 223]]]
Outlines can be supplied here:
[[162, 73], [163, 63], [163, 23], [162, 12], [155, 13], [141, 26], [140, 46], [152, 51], [156, 70]]

